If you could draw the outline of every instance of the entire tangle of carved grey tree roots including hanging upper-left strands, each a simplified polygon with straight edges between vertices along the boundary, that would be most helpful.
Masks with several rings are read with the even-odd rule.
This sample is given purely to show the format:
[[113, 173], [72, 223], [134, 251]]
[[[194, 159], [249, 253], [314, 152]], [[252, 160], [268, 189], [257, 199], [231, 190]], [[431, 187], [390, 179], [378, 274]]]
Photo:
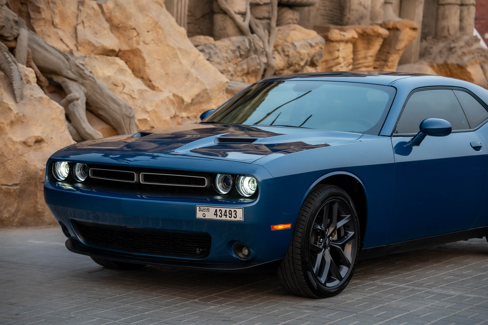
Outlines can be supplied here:
[[[96, 80], [71, 54], [49, 45], [29, 31], [25, 21], [6, 7], [5, 0], [0, 0], [0, 39], [0, 69], [12, 82], [16, 102], [22, 100], [22, 77], [17, 63], [19, 61], [34, 69], [38, 83], [46, 95], [50, 94], [47, 91], [49, 81], [45, 76], [61, 85], [67, 95], [60, 104], [71, 120], [67, 125], [76, 141], [102, 138], [102, 134], [86, 118], [86, 103], [93, 114], [112, 126], [117, 133], [137, 132], [132, 107]], [[15, 57], [5, 43], [15, 47]]]

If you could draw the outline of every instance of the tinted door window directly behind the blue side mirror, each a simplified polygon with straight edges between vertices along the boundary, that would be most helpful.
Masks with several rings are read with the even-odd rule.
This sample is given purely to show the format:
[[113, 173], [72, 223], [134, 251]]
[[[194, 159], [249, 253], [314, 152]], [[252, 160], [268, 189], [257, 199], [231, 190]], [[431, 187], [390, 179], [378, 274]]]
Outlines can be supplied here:
[[452, 130], [469, 129], [468, 121], [454, 92], [450, 89], [417, 91], [410, 96], [397, 123], [395, 133], [417, 133], [425, 119], [444, 119]]

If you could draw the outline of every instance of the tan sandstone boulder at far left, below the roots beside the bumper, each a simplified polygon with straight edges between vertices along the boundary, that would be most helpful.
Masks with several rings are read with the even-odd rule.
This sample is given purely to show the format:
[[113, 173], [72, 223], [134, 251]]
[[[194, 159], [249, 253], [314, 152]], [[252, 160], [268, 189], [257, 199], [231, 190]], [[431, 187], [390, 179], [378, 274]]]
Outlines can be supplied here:
[[55, 224], [44, 203], [47, 158], [73, 142], [64, 109], [47, 97], [34, 71], [21, 66], [24, 99], [16, 103], [0, 72], [0, 226]]

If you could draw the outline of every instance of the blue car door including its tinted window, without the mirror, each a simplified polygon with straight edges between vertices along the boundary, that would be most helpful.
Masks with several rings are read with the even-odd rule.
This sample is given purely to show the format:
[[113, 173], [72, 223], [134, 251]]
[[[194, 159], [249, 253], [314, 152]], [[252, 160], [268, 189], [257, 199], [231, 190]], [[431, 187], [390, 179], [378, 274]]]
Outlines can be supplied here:
[[[452, 133], [405, 146], [427, 118], [447, 120]], [[395, 178], [387, 243], [470, 228], [484, 194], [487, 148], [469, 125], [454, 91], [413, 92], [391, 139]]]

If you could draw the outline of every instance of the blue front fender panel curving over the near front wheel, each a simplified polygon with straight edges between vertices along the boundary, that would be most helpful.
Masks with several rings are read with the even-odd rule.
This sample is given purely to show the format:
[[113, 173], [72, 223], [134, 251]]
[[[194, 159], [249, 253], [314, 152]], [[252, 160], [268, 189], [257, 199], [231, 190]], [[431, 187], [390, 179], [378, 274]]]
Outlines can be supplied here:
[[[361, 138], [363, 139], [363, 138]], [[394, 158], [389, 137], [367, 137], [338, 145], [290, 154], [268, 155], [254, 163], [266, 168], [284, 213], [298, 214], [306, 196], [332, 175], [349, 175], [364, 188], [367, 200], [367, 234], [364, 247], [386, 243], [393, 193]]]

